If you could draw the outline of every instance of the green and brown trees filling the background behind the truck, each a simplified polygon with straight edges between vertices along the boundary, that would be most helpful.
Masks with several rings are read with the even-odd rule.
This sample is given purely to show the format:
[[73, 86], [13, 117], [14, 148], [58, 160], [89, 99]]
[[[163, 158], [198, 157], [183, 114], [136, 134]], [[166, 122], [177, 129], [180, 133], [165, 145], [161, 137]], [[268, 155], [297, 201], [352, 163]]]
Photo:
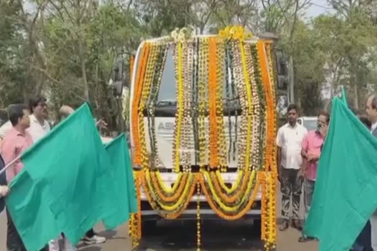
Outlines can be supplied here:
[[122, 129], [121, 100], [108, 89], [114, 59], [123, 56], [129, 79], [128, 59], [141, 40], [185, 26], [216, 33], [242, 24], [278, 35], [305, 115], [316, 114], [323, 93], [333, 96], [339, 85], [358, 105], [377, 88], [374, 3], [336, 0], [336, 14], [307, 21], [307, 0], [33, 0], [27, 9], [19, 2], [0, 1], [0, 107], [42, 92], [53, 113], [89, 101], [112, 129]]

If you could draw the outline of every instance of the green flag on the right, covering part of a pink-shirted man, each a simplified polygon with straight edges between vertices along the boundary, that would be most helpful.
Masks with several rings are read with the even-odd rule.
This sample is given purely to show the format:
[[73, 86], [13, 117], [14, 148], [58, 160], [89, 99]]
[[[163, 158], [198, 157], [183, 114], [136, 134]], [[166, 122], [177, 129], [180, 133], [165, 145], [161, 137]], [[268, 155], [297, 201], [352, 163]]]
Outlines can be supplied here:
[[377, 139], [335, 98], [304, 233], [320, 251], [348, 251], [377, 208]]

